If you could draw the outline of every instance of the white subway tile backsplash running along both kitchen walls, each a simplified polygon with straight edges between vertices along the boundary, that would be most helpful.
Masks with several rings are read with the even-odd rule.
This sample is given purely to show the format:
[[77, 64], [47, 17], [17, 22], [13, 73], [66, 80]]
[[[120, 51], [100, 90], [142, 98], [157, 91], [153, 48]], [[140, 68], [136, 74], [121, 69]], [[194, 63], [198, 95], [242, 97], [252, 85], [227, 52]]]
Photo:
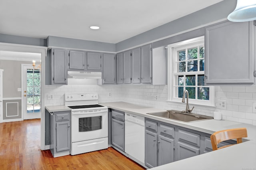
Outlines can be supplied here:
[[[64, 93], [97, 92], [99, 103], [124, 101], [159, 109], [184, 110], [185, 103], [167, 102], [167, 85], [46, 85], [45, 105], [64, 105]], [[47, 100], [47, 93], [54, 99]], [[108, 96], [111, 93], [112, 96]], [[157, 99], [156, 97], [157, 96]], [[256, 113], [252, 113], [252, 103], [256, 102], [256, 86], [217, 86], [215, 103], [226, 100], [227, 109], [196, 106], [194, 113], [213, 116], [214, 111], [222, 112], [222, 119], [256, 125]], [[192, 105], [191, 105], [192, 106]]]

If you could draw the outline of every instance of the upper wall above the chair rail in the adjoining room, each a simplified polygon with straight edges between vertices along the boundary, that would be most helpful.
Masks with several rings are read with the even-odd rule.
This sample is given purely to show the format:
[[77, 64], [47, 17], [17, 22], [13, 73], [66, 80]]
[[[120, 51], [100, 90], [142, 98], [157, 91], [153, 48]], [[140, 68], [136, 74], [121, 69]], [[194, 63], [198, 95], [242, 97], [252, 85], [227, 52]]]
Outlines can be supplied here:
[[32, 61], [0, 60], [3, 71], [3, 97], [21, 97], [21, 64], [31, 64]]

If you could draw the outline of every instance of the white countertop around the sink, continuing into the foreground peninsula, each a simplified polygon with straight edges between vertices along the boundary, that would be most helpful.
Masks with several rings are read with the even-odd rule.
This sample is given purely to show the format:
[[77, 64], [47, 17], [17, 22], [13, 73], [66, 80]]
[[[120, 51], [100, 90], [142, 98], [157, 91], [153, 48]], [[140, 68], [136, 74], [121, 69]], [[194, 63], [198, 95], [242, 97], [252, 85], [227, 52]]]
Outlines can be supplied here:
[[134, 105], [125, 102], [100, 104], [111, 109], [148, 117], [208, 134], [230, 128], [247, 128], [248, 137], [246, 139], [250, 141], [158, 166], [152, 168], [152, 170], [256, 170], [256, 126], [226, 120], [218, 121], [214, 119], [186, 123], [146, 114], [166, 111], [163, 109]]

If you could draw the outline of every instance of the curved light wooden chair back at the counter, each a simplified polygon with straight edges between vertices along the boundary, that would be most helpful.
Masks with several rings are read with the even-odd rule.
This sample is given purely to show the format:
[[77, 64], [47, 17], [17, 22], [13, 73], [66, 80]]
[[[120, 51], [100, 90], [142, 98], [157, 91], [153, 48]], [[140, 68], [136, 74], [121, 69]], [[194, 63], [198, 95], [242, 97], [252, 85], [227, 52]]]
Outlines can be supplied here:
[[238, 144], [238, 143], [242, 143], [242, 138], [246, 138], [246, 137], [247, 137], [246, 128], [233, 128], [233, 129], [220, 130], [218, 132], [214, 132], [211, 135], [212, 150], [218, 150], [218, 149], [225, 148], [232, 145], [230, 144], [230, 145], [222, 146], [218, 148], [217, 145], [222, 141], [236, 138], [236, 143]]

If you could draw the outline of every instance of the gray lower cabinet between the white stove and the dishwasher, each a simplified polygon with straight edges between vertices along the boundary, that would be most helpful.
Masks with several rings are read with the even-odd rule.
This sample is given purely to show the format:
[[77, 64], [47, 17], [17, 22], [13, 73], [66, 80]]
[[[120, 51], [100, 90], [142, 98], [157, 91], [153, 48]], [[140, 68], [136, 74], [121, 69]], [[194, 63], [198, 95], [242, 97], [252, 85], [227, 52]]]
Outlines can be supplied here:
[[112, 145], [124, 151], [124, 113], [112, 110]]

